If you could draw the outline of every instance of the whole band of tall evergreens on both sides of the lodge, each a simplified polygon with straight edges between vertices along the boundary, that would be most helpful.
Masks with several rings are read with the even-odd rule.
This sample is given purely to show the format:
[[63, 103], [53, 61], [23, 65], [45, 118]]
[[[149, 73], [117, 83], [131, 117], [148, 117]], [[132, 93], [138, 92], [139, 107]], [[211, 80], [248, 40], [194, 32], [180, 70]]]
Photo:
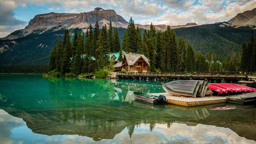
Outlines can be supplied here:
[[[70, 33], [66, 29], [63, 41], [60, 37], [59, 42], [55, 43], [51, 51], [47, 71], [57, 73], [58, 76], [73, 76], [100, 71], [104, 68], [114, 70], [109, 53], [121, 53], [122, 50], [126, 53], [144, 54], [150, 60], [148, 70], [151, 72], [239, 71], [243, 69], [241, 68], [241, 54], [231, 52], [226, 57], [218, 57], [211, 52], [200, 53], [195, 51], [183, 37], [177, 38], [170, 26], [165, 31], [161, 31], [156, 30], [151, 23], [149, 30], [144, 29], [143, 34], [141, 31], [143, 30], [138, 26], [135, 27], [131, 18], [124, 31], [121, 45], [117, 28], [112, 27], [111, 21], [108, 27], [105, 24], [101, 30], [98, 22], [95, 23], [94, 28], [90, 25], [85, 38], [84, 33], [75, 31], [72, 42]], [[119, 61], [122, 61], [122, 57], [119, 57]]]

